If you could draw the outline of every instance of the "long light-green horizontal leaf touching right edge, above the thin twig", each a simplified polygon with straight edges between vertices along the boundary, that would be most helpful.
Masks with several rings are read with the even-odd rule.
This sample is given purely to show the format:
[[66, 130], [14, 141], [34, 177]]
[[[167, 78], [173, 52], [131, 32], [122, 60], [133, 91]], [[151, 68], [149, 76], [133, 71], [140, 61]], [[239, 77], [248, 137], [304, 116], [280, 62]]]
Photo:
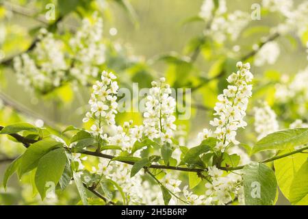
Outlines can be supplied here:
[[308, 143], [308, 128], [285, 129], [270, 133], [253, 147], [252, 153], [266, 150], [283, 150]]

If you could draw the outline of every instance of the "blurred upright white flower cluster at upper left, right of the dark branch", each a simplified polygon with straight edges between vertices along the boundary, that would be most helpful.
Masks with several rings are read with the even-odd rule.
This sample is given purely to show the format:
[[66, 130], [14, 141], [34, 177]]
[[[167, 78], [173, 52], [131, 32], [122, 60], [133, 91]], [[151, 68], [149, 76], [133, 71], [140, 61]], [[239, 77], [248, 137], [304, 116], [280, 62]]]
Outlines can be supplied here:
[[91, 18], [84, 18], [82, 25], [69, 46], [73, 53], [73, 67], [70, 74], [86, 85], [88, 77], [99, 75], [99, 66], [105, 62], [105, 44], [103, 44], [103, 18], [97, 12]]

